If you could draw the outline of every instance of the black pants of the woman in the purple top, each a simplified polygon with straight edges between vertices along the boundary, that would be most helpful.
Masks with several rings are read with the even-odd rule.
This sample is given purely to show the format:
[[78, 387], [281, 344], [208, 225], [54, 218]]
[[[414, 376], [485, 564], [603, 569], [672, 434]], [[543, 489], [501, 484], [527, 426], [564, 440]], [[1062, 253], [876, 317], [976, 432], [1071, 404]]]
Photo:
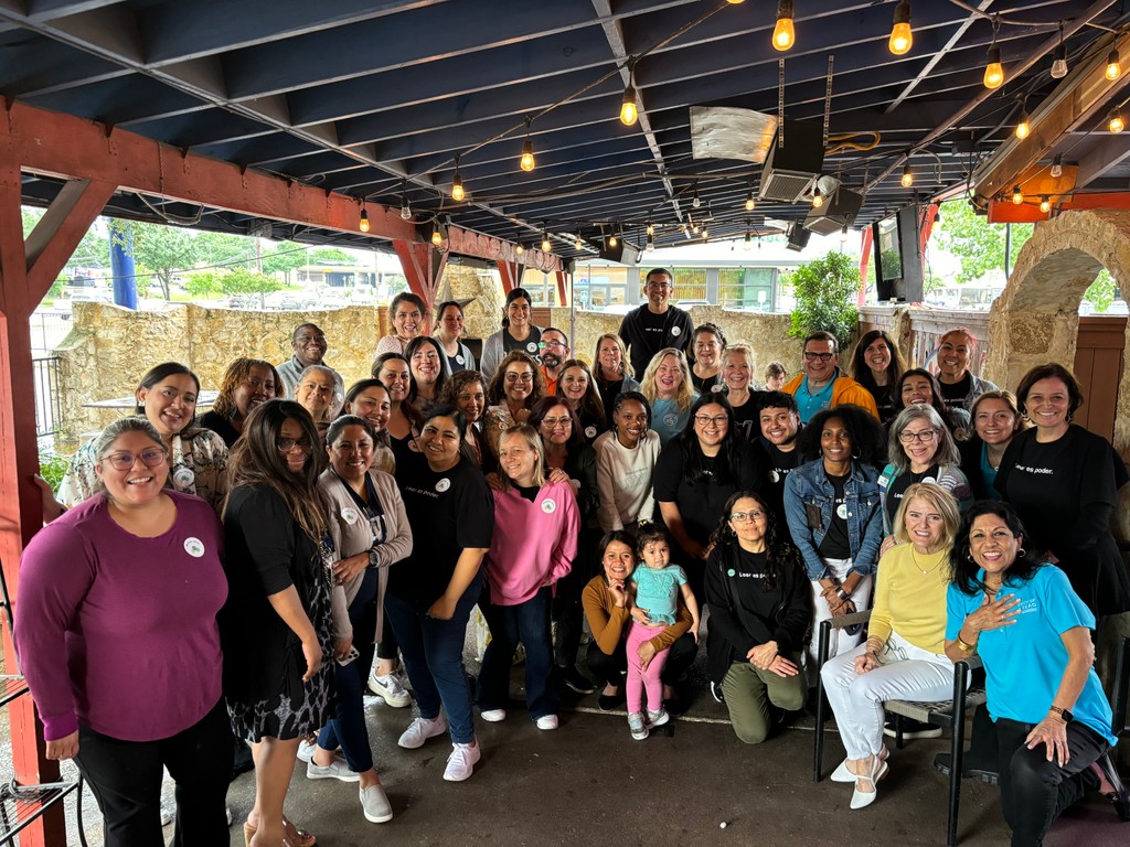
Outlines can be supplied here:
[[162, 767], [176, 781], [174, 847], [228, 842], [225, 797], [232, 730], [220, 698], [195, 725], [159, 741], [122, 741], [79, 726], [75, 763], [98, 801], [106, 847], [165, 847]]

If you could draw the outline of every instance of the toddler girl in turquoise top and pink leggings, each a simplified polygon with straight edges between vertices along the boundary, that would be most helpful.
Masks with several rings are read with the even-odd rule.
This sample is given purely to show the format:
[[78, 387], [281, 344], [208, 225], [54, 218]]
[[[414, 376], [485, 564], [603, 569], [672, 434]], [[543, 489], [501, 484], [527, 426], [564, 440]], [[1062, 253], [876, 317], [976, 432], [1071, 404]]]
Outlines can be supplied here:
[[[675, 623], [679, 594], [690, 612], [690, 631], [698, 640], [698, 603], [687, 585], [687, 575], [671, 565], [671, 549], [662, 529], [642, 525], [637, 551], [643, 567], [632, 573], [632, 627], [628, 630], [627, 709], [632, 737], [643, 741], [653, 726], [662, 726], [670, 717], [663, 708], [663, 683], [660, 674], [670, 648], [655, 653], [650, 661], [640, 656], [640, 648]], [[647, 691], [647, 715], [643, 714], [643, 692]]]

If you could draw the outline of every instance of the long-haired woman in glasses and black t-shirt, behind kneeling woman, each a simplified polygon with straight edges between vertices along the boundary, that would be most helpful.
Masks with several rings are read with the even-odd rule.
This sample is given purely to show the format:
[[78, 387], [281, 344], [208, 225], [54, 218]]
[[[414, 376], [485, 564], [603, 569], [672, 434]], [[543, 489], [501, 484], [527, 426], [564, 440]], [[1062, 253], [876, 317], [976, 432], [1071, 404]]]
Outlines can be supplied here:
[[660, 454], [654, 477], [655, 501], [679, 551], [672, 561], [687, 571], [699, 601], [710, 536], [725, 501], [765, 484], [763, 454], [741, 437], [730, 403], [718, 394], [701, 396], [686, 428]]

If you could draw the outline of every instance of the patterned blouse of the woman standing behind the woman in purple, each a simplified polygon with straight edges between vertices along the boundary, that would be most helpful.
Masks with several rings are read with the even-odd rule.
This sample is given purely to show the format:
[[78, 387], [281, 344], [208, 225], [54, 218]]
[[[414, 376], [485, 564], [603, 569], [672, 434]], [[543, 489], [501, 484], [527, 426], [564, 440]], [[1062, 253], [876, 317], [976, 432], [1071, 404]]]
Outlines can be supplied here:
[[[59, 484], [59, 501], [67, 508], [89, 499], [99, 488], [94, 470], [98, 457], [90, 439], [75, 453], [70, 468]], [[227, 495], [227, 445], [216, 433], [203, 427], [188, 427], [173, 436], [169, 488], [195, 495], [219, 513]]]

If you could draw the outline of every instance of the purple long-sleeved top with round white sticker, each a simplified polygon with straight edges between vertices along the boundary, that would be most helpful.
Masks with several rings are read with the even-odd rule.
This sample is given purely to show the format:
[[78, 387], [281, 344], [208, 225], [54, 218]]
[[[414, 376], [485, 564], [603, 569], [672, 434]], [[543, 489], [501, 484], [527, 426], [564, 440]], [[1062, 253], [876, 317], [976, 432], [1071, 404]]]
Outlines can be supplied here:
[[16, 649], [47, 741], [80, 723], [124, 741], [167, 739], [223, 693], [220, 523], [200, 498], [165, 495], [176, 521], [164, 535], [127, 532], [98, 495], [24, 551]]

